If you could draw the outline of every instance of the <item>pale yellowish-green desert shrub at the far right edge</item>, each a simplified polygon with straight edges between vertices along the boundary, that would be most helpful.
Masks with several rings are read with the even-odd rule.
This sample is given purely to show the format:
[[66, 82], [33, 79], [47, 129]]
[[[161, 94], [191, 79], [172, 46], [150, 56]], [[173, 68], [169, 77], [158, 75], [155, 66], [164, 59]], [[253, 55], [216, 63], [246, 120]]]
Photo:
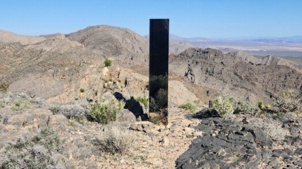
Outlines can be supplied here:
[[278, 107], [280, 112], [296, 112], [301, 113], [302, 109], [302, 100], [299, 96], [295, 96], [292, 90], [286, 89], [281, 91], [283, 98], [278, 100], [275, 106]]

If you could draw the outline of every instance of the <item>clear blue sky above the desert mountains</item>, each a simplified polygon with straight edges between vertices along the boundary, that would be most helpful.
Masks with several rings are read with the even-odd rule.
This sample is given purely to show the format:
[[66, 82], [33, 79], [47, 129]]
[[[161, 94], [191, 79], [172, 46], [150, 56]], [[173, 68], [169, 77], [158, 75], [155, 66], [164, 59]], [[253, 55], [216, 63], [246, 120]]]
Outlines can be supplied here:
[[301, 0], [0, 0], [0, 29], [21, 35], [104, 24], [148, 35], [150, 18], [169, 18], [182, 37], [302, 35]]

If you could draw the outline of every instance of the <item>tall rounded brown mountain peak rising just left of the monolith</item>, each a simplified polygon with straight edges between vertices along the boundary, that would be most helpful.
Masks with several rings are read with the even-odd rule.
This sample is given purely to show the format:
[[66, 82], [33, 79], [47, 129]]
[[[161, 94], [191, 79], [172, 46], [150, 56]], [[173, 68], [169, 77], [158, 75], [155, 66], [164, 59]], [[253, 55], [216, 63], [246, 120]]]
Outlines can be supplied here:
[[67, 34], [69, 40], [77, 41], [86, 48], [98, 51], [105, 57], [131, 55], [131, 57], [149, 54], [148, 41], [126, 28], [108, 25], [89, 26]]

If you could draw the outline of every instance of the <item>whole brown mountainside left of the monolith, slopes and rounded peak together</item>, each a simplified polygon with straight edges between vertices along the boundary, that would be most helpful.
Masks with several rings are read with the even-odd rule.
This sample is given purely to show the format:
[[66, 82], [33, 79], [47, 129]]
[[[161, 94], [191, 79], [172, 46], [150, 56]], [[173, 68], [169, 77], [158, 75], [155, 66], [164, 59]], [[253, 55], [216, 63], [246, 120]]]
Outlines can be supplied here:
[[[72, 40], [79, 37], [84, 39], [82, 44]], [[117, 81], [118, 72], [121, 72], [120, 81], [128, 77], [129, 86], [136, 84], [128, 87], [132, 96], [144, 92], [136, 88], [144, 89], [148, 81], [146, 76], [127, 68], [134, 66], [137, 71], [148, 74], [149, 69], [145, 68], [149, 57], [148, 42], [133, 31], [92, 26], [69, 35], [37, 38], [44, 40], [28, 45], [22, 45], [20, 41], [0, 43], [0, 83], [9, 84], [10, 92], [36, 95], [48, 103], [66, 103], [83, 97], [79, 95], [79, 88], [85, 88], [90, 91], [88, 93], [92, 90], [99, 94], [106, 92], [104, 81]], [[110, 72], [104, 67], [105, 58], [113, 60]], [[139, 69], [140, 64], [142, 69]]]

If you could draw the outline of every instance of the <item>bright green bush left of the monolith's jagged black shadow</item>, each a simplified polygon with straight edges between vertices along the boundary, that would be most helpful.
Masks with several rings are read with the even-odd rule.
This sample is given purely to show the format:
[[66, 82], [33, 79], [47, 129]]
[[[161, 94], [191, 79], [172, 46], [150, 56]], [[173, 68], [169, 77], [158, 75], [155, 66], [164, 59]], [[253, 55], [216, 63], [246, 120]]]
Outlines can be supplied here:
[[102, 124], [107, 124], [109, 121], [115, 121], [117, 115], [124, 108], [125, 103], [119, 100], [110, 100], [108, 103], [100, 101], [92, 105], [91, 112], [88, 114], [89, 119]]

